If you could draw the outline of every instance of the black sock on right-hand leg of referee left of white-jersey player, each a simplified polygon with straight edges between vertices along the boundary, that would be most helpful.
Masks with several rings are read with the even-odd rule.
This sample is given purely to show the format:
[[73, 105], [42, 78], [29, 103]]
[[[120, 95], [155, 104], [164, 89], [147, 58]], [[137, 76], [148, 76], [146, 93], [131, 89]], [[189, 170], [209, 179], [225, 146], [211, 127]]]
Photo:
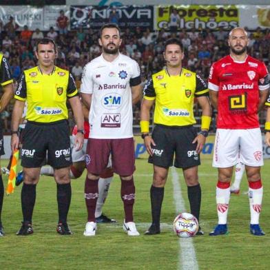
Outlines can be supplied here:
[[65, 224], [67, 222], [67, 213], [70, 209], [71, 201], [71, 185], [57, 184], [57, 203], [59, 213], [59, 223]]

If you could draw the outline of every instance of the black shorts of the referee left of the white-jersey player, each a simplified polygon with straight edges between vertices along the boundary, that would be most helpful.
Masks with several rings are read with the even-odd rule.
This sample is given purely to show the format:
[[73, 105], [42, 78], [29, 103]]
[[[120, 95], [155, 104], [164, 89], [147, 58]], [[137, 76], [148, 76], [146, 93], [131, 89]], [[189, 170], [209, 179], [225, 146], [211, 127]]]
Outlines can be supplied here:
[[56, 169], [72, 165], [67, 121], [52, 124], [28, 121], [22, 136], [21, 166], [41, 167], [46, 156], [47, 163]]

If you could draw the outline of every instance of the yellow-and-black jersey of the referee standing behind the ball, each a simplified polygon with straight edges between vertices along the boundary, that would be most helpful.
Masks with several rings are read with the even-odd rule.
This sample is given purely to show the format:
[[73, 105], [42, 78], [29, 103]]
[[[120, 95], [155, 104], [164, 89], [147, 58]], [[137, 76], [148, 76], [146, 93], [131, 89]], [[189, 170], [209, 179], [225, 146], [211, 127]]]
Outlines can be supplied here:
[[178, 76], [169, 75], [167, 70], [153, 74], [143, 92], [145, 99], [156, 99], [154, 123], [168, 126], [196, 123], [194, 97], [209, 95], [207, 83], [198, 74], [185, 68]]

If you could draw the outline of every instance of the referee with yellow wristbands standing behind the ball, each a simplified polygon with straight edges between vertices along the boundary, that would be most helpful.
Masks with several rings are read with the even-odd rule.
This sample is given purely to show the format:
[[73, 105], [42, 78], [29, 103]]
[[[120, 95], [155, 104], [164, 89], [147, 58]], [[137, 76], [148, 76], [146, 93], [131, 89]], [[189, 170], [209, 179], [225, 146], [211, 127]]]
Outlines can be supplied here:
[[[178, 39], [165, 43], [165, 70], [152, 75], [144, 88], [141, 105], [141, 132], [149, 153], [149, 163], [153, 163], [154, 176], [150, 189], [152, 225], [147, 235], [160, 233], [160, 211], [163, 203], [164, 186], [169, 167], [183, 169], [191, 214], [199, 220], [201, 190], [198, 182], [198, 165], [211, 122], [211, 106], [207, 84], [198, 74], [182, 67], [183, 45]], [[203, 110], [202, 126], [199, 134], [193, 127], [194, 97]], [[149, 135], [149, 112], [154, 110], [154, 131]], [[175, 160], [174, 160], [175, 155]], [[199, 228], [197, 233], [202, 235]]]

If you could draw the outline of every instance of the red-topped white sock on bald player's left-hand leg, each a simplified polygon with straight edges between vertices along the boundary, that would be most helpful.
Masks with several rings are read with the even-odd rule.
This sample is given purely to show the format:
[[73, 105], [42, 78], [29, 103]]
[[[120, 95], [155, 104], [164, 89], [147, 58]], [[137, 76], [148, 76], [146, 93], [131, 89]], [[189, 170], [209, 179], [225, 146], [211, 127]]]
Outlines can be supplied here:
[[[228, 187], [224, 188], [226, 184]], [[218, 181], [218, 185], [216, 187], [216, 209], [218, 211], [218, 224], [227, 224], [230, 195], [231, 192], [229, 189], [229, 183], [221, 183]]]

